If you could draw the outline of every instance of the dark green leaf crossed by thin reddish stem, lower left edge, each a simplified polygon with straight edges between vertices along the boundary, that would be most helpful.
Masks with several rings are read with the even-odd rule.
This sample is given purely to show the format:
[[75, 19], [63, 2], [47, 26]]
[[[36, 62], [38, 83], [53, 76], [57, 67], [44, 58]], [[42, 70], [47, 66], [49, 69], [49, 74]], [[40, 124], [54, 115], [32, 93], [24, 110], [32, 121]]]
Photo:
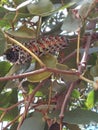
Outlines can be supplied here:
[[[3, 94], [0, 94], [0, 107], [7, 108], [15, 103], [17, 103], [17, 90], [13, 89], [9, 92], [5, 92]], [[2, 111], [0, 111], [0, 115], [2, 114]], [[9, 110], [5, 116], [3, 117], [3, 121], [11, 121], [18, 115], [18, 107], [16, 106], [14, 109]]]

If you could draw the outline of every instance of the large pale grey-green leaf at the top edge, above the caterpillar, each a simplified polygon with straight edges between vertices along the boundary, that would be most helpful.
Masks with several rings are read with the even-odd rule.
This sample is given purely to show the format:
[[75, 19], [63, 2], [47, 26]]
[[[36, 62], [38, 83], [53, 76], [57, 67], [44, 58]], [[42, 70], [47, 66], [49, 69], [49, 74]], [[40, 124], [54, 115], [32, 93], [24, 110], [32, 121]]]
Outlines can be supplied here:
[[49, 12], [54, 10], [54, 6], [50, 0], [40, 0], [36, 3], [30, 3], [27, 5], [27, 9], [34, 15], [48, 15]]

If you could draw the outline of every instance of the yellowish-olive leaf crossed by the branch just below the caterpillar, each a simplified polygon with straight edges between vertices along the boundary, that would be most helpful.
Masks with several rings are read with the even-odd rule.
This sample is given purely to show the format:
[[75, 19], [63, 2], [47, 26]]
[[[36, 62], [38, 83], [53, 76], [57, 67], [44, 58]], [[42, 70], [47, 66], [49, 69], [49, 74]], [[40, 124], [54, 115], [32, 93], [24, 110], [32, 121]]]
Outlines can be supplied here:
[[[42, 56], [40, 59], [43, 61], [43, 63], [47, 67], [50, 67], [50, 68], [56, 67], [57, 59], [54, 56], [52, 56], [51, 54], [47, 54], [45, 56]], [[36, 69], [39, 69], [39, 68], [40, 68], [40, 66], [37, 63]], [[39, 72], [37, 74], [33, 74], [32, 76], [28, 77], [28, 80], [31, 82], [40, 82], [40, 81], [48, 78], [51, 74], [52, 74], [52, 72], [47, 72], [47, 71]]]

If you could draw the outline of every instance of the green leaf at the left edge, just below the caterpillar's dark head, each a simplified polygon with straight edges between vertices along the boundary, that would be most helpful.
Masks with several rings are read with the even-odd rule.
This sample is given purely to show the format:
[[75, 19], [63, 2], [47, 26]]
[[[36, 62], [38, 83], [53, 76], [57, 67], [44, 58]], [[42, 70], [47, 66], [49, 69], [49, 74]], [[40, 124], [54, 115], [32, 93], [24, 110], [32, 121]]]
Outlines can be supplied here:
[[7, 61], [0, 62], [0, 76], [4, 76], [10, 70], [11, 64]]

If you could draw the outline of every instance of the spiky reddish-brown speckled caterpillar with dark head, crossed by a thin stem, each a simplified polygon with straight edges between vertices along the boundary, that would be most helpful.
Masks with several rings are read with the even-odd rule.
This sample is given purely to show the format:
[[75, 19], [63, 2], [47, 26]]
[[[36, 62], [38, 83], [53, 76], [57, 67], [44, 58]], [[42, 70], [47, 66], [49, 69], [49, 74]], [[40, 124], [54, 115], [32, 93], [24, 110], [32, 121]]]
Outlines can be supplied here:
[[[65, 36], [43, 36], [38, 40], [30, 40], [22, 44], [40, 57], [47, 53], [59, 52], [60, 49], [68, 46], [68, 41]], [[7, 49], [5, 56], [10, 62], [17, 64], [24, 64], [32, 60], [31, 55], [18, 45], [12, 45]]]

